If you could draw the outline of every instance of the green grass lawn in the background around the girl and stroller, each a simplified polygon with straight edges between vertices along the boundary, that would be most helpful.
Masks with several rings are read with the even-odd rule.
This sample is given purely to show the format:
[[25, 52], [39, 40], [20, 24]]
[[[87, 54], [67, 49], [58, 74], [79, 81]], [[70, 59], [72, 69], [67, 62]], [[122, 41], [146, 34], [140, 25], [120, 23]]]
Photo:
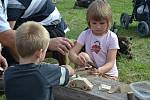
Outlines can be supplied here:
[[[132, 14], [132, 0], [108, 0], [112, 6], [113, 20], [116, 22], [118, 36], [132, 37], [132, 53], [134, 58], [128, 60], [121, 57], [117, 60], [119, 80], [124, 83], [150, 80], [150, 36], [140, 37], [136, 33], [138, 22], [130, 24], [128, 30], [120, 27], [120, 15], [123, 12]], [[86, 27], [86, 9], [73, 9], [75, 0], [62, 0], [56, 4], [62, 17], [68, 24], [70, 32], [66, 34], [69, 39], [76, 39]], [[0, 96], [0, 100], [6, 100]]]

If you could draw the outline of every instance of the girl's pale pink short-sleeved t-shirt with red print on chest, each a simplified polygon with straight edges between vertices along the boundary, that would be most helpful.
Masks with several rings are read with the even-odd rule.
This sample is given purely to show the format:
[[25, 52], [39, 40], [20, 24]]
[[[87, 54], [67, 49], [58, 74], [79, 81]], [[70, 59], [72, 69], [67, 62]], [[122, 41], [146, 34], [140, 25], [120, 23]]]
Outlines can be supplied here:
[[[85, 51], [96, 63], [97, 67], [103, 66], [106, 63], [109, 49], [120, 49], [117, 35], [110, 30], [103, 36], [95, 36], [91, 29], [85, 30], [79, 35], [77, 42], [85, 45]], [[112, 69], [106, 74], [118, 76], [116, 61]]]

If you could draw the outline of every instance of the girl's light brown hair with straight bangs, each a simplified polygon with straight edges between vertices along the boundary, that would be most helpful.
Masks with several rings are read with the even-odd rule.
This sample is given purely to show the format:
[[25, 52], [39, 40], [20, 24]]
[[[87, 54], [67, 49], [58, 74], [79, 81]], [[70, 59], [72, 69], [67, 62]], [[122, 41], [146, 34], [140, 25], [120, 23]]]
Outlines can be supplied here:
[[89, 27], [91, 19], [96, 21], [105, 19], [108, 22], [108, 29], [110, 29], [112, 24], [111, 6], [106, 0], [93, 1], [87, 9], [86, 19]]

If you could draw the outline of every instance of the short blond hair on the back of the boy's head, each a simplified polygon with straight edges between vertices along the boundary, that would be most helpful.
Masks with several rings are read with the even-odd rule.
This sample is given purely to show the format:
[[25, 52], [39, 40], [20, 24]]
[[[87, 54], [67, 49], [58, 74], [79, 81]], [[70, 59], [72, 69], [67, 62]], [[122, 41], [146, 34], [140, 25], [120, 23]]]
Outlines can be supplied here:
[[38, 49], [47, 49], [50, 36], [39, 23], [28, 21], [16, 30], [16, 48], [21, 57], [30, 57]]

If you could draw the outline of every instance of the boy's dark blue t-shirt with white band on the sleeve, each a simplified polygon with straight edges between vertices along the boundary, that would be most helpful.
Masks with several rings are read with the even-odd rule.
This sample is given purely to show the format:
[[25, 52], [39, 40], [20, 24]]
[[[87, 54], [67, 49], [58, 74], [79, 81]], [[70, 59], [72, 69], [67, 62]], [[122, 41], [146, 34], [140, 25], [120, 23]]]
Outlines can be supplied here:
[[22, 64], [4, 73], [7, 100], [53, 100], [52, 87], [66, 85], [69, 72], [52, 64]]

